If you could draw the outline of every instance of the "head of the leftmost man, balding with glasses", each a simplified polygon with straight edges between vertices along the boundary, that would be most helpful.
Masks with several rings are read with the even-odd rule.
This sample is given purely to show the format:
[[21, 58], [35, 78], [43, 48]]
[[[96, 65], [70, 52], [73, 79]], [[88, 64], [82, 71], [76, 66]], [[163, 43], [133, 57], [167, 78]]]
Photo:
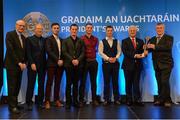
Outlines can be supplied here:
[[26, 27], [26, 23], [24, 20], [17, 20], [16, 21], [16, 30], [19, 32], [19, 33], [23, 33], [24, 30], [25, 30], [25, 27]]

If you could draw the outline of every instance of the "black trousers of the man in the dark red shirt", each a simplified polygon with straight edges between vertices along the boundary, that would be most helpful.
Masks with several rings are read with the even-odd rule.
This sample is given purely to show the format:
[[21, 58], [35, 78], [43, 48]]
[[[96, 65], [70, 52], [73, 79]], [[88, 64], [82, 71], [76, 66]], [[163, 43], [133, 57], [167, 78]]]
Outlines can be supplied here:
[[86, 87], [86, 79], [89, 73], [90, 81], [91, 81], [91, 92], [92, 92], [92, 100], [96, 100], [96, 77], [97, 77], [97, 69], [98, 69], [98, 62], [94, 61], [86, 61], [85, 66], [83, 69], [83, 77], [80, 82], [79, 88], [79, 100], [84, 101], [84, 94], [85, 94], [85, 87]]

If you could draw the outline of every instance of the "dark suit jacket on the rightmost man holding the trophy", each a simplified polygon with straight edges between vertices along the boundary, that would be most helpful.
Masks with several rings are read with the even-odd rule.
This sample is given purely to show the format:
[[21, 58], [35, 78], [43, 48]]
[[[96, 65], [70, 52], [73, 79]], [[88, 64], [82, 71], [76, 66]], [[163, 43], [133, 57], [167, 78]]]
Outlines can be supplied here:
[[156, 36], [149, 40], [149, 43], [155, 45], [155, 50], [150, 49], [152, 52], [154, 69], [172, 68], [174, 64], [172, 58], [173, 37], [164, 34], [158, 44], [156, 44], [156, 41]]

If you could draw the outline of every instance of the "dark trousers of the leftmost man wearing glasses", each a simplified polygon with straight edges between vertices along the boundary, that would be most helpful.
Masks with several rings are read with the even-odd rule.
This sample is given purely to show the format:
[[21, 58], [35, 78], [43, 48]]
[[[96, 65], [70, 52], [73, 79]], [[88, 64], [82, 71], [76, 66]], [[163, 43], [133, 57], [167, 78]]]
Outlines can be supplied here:
[[8, 104], [10, 108], [17, 107], [18, 94], [21, 87], [22, 71], [17, 69], [7, 69], [7, 84], [8, 84]]

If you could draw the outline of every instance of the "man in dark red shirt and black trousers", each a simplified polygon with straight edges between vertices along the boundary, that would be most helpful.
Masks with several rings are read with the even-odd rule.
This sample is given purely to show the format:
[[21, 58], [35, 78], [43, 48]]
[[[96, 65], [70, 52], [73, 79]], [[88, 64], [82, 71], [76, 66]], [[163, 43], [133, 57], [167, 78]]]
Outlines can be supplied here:
[[85, 63], [83, 77], [81, 79], [79, 89], [80, 106], [83, 106], [84, 103], [85, 86], [88, 72], [91, 81], [92, 103], [93, 105], [99, 104], [96, 100], [96, 77], [98, 69], [98, 62], [96, 61], [96, 49], [98, 45], [98, 38], [92, 35], [93, 25], [91, 23], [87, 23], [85, 27], [86, 34], [81, 37], [85, 44]]

